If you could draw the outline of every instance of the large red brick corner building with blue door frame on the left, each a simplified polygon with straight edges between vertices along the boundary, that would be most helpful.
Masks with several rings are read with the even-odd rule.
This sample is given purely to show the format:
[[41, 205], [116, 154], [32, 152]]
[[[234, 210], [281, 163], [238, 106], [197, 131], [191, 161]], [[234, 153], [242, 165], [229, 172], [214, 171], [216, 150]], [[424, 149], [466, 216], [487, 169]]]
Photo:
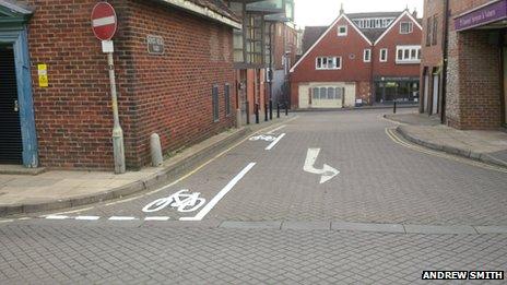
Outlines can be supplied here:
[[[107, 60], [90, 20], [96, 2], [0, 1], [1, 163], [113, 168]], [[152, 133], [168, 152], [234, 126], [240, 23], [222, 1], [109, 3], [119, 22], [114, 56], [129, 168], [149, 164]]]

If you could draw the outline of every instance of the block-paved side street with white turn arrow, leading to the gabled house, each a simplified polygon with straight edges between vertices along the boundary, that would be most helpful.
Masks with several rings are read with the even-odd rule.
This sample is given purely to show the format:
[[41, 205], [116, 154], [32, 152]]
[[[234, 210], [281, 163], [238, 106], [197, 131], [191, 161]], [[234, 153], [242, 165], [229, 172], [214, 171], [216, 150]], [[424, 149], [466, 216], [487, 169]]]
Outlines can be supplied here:
[[[346, 221], [427, 225], [507, 225], [507, 175], [417, 153], [386, 135], [381, 111], [305, 114], [268, 142], [247, 141], [167, 190], [79, 214], [144, 216], [148, 203], [180, 189], [212, 199], [248, 163], [257, 165], [210, 212], [221, 221]], [[341, 174], [319, 185], [303, 171], [309, 147], [316, 167]], [[178, 218], [180, 213], [154, 213]], [[182, 216], [191, 216], [185, 213]]]

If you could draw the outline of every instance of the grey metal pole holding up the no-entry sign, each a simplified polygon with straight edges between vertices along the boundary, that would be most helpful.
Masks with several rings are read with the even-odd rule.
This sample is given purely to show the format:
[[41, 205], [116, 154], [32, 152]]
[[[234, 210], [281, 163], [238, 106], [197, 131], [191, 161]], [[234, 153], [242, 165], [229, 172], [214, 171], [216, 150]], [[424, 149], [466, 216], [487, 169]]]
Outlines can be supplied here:
[[113, 52], [107, 52], [107, 64], [109, 67], [109, 82], [111, 90], [113, 117], [115, 124], [113, 127], [113, 149], [115, 153], [115, 174], [125, 174], [125, 149], [123, 149], [123, 130], [120, 126], [118, 116], [118, 96], [116, 94], [115, 62]]

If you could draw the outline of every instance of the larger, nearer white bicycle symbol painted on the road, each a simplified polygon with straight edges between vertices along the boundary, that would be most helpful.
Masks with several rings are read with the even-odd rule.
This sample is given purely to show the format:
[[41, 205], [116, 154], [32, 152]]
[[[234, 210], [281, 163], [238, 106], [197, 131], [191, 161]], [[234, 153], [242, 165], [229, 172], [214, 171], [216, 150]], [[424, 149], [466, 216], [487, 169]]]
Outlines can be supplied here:
[[193, 212], [205, 203], [204, 198], [199, 198], [201, 193], [186, 193], [188, 189], [180, 190], [169, 197], [157, 199], [143, 207], [144, 213], [152, 213], [163, 210], [166, 206], [176, 207], [178, 212]]

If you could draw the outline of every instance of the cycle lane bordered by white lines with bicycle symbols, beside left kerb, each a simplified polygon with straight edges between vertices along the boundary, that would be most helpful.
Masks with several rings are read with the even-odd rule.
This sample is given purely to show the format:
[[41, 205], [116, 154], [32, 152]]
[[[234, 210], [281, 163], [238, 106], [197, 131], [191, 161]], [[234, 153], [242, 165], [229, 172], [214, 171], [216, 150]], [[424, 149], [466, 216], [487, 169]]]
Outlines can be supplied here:
[[[90, 222], [202, 221], [223, 202], [227, 193], [244, 190], [243, 180], [257, 167], [258, 158], [267, 155], [282, 141], [285, 134], [279, 131], [285, 127], [273, 127], [252, 134], [197, 171], [148, 193], [40, 217]], [[273, 140], [250, 140], [257, 135], [271, 135]]]

